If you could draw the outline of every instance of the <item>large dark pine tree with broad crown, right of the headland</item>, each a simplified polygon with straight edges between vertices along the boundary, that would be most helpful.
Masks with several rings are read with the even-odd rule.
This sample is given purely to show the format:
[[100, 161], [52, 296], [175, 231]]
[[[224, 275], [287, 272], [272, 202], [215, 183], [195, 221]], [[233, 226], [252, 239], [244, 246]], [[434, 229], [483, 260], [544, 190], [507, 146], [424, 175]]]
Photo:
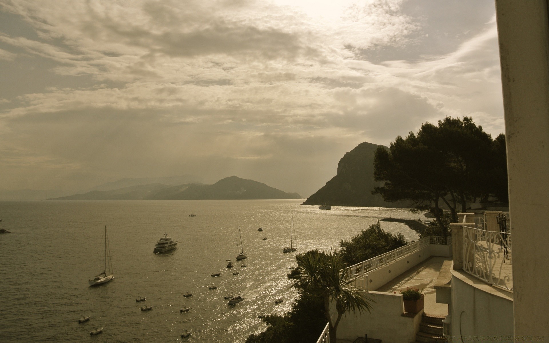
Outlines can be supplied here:
[[389, 151], [376, 150], [374, 179], [384, 185], [373, 194], [391, 202], [412, 200], [430, 209], [442, 227], [441, 204], [457, 221], [456, 213], [467, 203], [489, 195], [507, 200], [505, 136], [492, 139], [471, 117], [424, 123], [417, 134], [396, 137]]

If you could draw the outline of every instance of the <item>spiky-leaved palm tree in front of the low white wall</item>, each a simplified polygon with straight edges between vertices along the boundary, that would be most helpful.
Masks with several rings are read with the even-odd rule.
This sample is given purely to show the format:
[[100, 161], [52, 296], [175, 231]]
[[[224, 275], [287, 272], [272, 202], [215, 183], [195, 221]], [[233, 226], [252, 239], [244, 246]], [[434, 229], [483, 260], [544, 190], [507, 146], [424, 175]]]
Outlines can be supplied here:
[[[299, 278], [293, 286], [300, 291], [318, 294], [324, 300], [324, 316], [328, 320], [330, 342], [335, 343], [339, 321], [343, 314], [353, 311], [370, 312], [373, 300], [363, 291], [351, 285], [352, 279], [345, 277], [345, 262], [332, 251], [329, 254], [318, 250], [307, 251], [296, 256]], [[338, 313], [335, 322], [330, 317], [330, 300]]]

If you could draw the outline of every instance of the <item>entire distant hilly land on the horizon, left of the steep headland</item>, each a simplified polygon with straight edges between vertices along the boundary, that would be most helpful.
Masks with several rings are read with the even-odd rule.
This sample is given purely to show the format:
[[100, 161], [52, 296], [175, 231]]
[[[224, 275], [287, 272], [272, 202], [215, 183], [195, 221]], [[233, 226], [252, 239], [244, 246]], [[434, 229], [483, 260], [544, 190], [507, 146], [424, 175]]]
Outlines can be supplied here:
[[83, 194], [47, 200], [244, 200], [301, 199], [298, 193], [286, 193], [265, 183], [230, 176], [214, 184], [185, 183], [167, 185], [148, 183], [112, 190], [91, 190]]

